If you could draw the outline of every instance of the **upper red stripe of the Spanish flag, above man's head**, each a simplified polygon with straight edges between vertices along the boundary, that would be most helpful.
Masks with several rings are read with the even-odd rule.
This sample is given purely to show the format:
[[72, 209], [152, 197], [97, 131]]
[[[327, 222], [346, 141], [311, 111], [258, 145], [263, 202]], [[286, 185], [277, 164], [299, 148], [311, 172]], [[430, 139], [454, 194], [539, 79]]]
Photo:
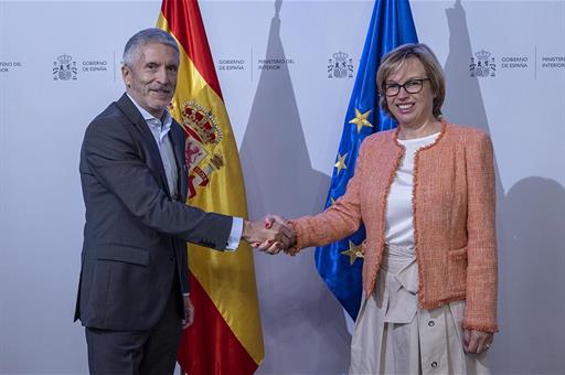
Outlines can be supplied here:
[[163, 1], [161, 12], [204, 81], [223, 99], [196, 0]]

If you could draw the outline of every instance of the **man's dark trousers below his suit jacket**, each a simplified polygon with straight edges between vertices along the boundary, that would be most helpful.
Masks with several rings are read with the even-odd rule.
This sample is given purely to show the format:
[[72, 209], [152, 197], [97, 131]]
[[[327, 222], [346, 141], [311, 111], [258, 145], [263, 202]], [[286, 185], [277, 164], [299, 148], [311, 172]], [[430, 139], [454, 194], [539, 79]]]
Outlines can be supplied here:
[[87, 326], [90, 374], [173, 374], [182, 332], [178, 303], [175, 293], [171, 293], [162, 318], [148, 331], [110, 331]]

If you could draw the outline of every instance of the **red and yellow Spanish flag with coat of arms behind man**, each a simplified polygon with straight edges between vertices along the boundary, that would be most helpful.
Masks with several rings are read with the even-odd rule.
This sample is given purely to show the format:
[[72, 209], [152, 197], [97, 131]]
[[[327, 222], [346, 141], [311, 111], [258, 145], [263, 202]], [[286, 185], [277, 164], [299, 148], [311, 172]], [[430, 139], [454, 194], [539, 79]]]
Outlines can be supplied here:
[[[247, 217], [237, 146], [220, 89], [196, 0], [163, 0], [157, 26], [180, 47], [171, 114], [186, 133], [188, 203]], [[188, 374], [253, 374], [263, 357], [253, 253], [189, 246], [194, 323], [178, 360]]]

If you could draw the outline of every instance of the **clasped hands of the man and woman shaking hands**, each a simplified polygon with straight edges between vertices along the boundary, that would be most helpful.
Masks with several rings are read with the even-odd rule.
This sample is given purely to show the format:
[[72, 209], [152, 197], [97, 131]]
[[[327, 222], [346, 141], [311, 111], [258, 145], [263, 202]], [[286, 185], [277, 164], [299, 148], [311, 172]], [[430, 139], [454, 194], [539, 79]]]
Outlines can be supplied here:
[[275, 255], [284, 250], [296, 255], [296, 233], [288, 221], [277, 215], [267, 215], [265, 221], [243, 223], [242, 239], [259, 251]]

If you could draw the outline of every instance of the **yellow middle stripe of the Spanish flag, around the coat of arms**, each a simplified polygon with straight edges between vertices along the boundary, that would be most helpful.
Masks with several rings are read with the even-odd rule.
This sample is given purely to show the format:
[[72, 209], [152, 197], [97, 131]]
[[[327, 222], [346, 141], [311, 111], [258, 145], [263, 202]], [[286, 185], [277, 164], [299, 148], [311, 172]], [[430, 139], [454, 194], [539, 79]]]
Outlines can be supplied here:
[[[170, 32], [162, 13], [159, 15], [158, 28]], [[210, 110], [223, 138], [213, 152], [221, 154], [224, 164], [231, 167], [214, 170], [210, 184], [196, 188], [198, 193], [190, 200], [190, 204], [205, 211], [247, 217], [239, 156], [225, 105], [204, 81], [180, 43], [179, 49], [179, 82], [171, 115], [185, 126], [182, 109], [189, 101]], [[252, 249], [242, 243], [234, 253], [218, 253], [191, 244], [189, 258], [191, 271], [249, 356], [259, 364], [265, 352]]]

